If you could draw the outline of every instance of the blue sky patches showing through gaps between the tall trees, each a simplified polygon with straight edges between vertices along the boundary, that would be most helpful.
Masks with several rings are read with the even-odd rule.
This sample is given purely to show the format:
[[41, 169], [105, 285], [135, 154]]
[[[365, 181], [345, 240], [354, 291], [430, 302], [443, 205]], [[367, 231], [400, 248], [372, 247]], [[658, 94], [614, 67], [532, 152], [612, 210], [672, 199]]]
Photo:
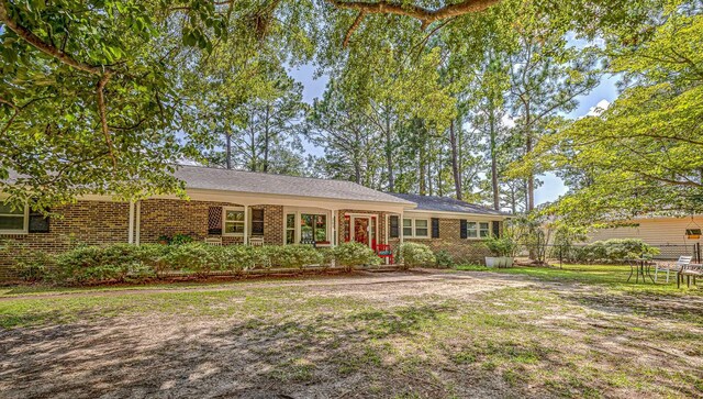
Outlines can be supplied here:
[[[312, 65], [303, 65], [293, 68], [290, 71], [291, 76], [295, 80], [303, 84], [303, 99], [306, 102], [312, 102], [316, 97], [321, 97], [328, 80], [326, 76], [314, 79], [314, 71], [315, 68]], [[573, 119], [583, 117], [603, 100], [609, 103], [613, 102], [615, 98], [617, 98], [617, 88], [615, 87], [616, 81], [617, 79], [615, 77], [604, 77], [601, 79], [600, 85], [595, 89], [593, 89], [588, 96], [581, 96], [578, 99], [579, 107], [569, 113], [568, 117]], [[320, 148], [314, 148], [312, 146], [306, 146], [305, 149], [315, 155], [322, 154]], [[553, 174], [540, 176], [539, 179], [544, 181], [544, 185], [535, 190], [535, 201], [538, 204], [554, 201], [567, 191], [561, 179]]]

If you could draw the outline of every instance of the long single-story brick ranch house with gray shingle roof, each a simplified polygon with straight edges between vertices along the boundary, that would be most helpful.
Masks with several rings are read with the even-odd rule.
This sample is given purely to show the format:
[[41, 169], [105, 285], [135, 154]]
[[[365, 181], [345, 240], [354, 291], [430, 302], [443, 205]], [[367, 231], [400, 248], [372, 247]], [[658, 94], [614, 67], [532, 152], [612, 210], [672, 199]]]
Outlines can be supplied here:
[[[450, 198], [380, 192], [350, 181], [180, 167], [189, 200], [156, 197], [118, 202], [85, 197], [53, 209], [45, 219], [0, 202], [0, 243], [62, 252], [75, 243], [157, 243], [189, 234], [223, 245], [309, 244], [355, 241], [376, 248], [420, 242], [465, 261], [481, 259], [481, 239], [500, 234], [507, 214]], [[12, 276], [12, 258], [0, 254], [0, 278]]]

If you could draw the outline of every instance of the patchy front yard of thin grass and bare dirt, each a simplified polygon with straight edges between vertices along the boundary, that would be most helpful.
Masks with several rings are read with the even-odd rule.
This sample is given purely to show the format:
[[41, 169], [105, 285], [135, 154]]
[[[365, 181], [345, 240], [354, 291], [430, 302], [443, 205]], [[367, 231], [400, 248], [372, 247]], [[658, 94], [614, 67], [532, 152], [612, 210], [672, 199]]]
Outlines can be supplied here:
[[609, 298], [488, 273], [13, 298], [0, 397], [701, 395], [699, 319]]

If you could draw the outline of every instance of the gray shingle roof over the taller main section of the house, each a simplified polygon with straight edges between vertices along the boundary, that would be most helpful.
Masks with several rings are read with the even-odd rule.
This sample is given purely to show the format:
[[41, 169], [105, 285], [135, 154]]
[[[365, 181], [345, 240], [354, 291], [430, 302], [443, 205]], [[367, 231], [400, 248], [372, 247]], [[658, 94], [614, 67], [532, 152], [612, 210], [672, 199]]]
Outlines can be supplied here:
[[179, 166], [175, 175], [186, 182], [187, 189], [194, 188], [414, 206], [414, 203], [402, 198], [344, 180], [326, 180], [312, 177], [260, 174], [200, 166]]

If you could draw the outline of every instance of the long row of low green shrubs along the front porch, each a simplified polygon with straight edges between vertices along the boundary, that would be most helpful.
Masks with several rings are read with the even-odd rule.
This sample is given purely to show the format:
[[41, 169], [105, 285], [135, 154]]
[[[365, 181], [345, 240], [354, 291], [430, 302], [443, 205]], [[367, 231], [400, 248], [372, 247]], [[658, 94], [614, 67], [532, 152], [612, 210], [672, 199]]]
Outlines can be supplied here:
[[92, 285], [138, 282], [174, 275], [237, 276], [254, 269], [290, 270], [311, 265], [326, 268], [333, 262], [350, 270], [354, 266], [378, 265], [380, 258], [371, 248], [357, 243], [324, 250], [309, 245], [114, 244], [78, 246], [58, 255], [38, 252], [20, 257], [16, 268], [18, 274], [30, 281]]

